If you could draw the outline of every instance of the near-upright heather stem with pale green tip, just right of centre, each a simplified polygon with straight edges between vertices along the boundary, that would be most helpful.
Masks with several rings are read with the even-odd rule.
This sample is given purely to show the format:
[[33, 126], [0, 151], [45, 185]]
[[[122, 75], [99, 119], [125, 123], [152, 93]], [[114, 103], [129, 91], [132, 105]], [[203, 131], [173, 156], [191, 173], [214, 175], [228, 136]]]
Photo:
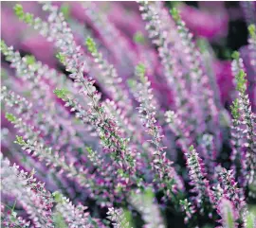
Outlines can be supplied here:
[[138, 81], [133, 83], [132, 90], [139, 102], [138, 113], [140, 118], [147, 129], [146, 132], [151, 137], [149, 142], [155, 147], [151, 166], [155, 170], [155, 181], [159, 182], [159, 187], [164, 190], [169, 198], [173, 191], [176, 191], [176, 189], [182, 191], [184, 186], [174, 167], [172, 167], [173, 163], [166, 158], [165, 148], [161, 146], [163, 135], [161, 134], [160, 126], [156, 124], [154, 96], [150, 88], [151, 83], [145, 76], [144, 65], [137, 66], [136, 74]]

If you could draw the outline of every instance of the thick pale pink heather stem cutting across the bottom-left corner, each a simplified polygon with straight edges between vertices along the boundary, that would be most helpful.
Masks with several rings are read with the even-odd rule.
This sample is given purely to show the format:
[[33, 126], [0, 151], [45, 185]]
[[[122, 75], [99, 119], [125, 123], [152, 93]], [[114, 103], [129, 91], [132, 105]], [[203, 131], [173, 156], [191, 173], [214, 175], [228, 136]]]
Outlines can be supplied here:
[[33, 173], [19, 171], [15, 165], [9, 167], [7, 159], [1, 158], [1, 167], [3, 193], [14, 196], [22, 204], [36, 227], [54, 228], [53, 199], [45, 184], [37, 183]]

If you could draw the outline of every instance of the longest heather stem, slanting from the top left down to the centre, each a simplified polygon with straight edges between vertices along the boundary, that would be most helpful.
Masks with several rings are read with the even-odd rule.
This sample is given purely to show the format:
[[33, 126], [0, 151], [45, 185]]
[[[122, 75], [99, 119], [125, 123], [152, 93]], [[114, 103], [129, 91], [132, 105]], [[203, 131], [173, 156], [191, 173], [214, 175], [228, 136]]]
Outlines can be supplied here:
[[[88, 70], [88, 66], [82, 51], [80, 51], [80, 46], [75, 43], [73, 34], [64, 21], [63, 13], [58, 12], [58, 8], [53, 7], [50, 3], [43, 3], [43, 9], [50, 12], [48, 23], [43, 23], [41, 19], [35, 19], [32, 20], [31, 24], [35, 25], [36, 29], [45, 29], [45, 31], [41, 31], [43, 35], [54, 41], [55, 45], [61, 49], [60, 57], [63, 59], [66, 70], [72, 73], [69, 77], [74, 79], [75, 84], [80, 87], [80, 93], [86, 100], [89, 100], [88, 113], [92, 117], [93, 123], [98, 127], [105, 151], [110, 153], [112, 159], [121, 167], [122, 173], [125, 175], [123, 178], [125, 182], [129, 182], [130, 176], [135, 172], [132, 152], [127, 149], [126, 140], [119, 136], [115, 120], [107, 116], [99, 103], [100, 95], [94, 86], [95, 81], [83, 77], [83, 72]], [[22, 15], [19, 18], [23, 20], [25, 14], [23, 9], [18, 11]], [[46, 27], [44, 27], [45, 25]], [[70, 99], [69, 102], [71, 102]]]

